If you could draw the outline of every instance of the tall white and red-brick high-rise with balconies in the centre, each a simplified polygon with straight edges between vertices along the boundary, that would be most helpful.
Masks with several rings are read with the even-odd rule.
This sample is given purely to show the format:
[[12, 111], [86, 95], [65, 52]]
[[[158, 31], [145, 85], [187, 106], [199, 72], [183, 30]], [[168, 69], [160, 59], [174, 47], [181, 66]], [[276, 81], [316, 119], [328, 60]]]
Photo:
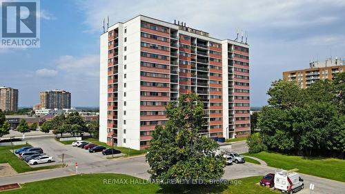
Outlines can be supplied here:
[[143, 149], [165, 106], [181, 93], [204, 101], [199, 131], [208, 137], [250, 134], [249, 46], [207, 32], [137, 16], [105, 29], [100, 45], [99, 140]]

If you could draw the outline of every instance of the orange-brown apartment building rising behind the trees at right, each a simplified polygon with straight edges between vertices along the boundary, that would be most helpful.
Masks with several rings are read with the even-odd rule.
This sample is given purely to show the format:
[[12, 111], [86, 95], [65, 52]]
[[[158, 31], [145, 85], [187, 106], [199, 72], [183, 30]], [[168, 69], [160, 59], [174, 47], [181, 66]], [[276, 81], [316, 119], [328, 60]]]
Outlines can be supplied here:
[[332, 80], [337, 72], [345, 70], [345, 61], [342, 59], [326, 59], [324, 62], [311, 61], [310, 68], [283, 72], [283, 79], [296, 81], [301, 88], [308, 88], [317, 80]]

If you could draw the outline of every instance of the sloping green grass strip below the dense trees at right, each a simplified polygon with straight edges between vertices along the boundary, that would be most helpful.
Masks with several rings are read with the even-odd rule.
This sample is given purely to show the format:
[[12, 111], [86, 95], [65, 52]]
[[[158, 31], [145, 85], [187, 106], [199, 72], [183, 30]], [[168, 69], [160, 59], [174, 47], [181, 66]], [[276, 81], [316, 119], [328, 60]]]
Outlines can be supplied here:
[[268, 166], [285, 170], [298, 168], [300, 173], [345, 182], [345, 160], [335, 158], [302, 157], [261, 152], [246, 153], [264, 160]]

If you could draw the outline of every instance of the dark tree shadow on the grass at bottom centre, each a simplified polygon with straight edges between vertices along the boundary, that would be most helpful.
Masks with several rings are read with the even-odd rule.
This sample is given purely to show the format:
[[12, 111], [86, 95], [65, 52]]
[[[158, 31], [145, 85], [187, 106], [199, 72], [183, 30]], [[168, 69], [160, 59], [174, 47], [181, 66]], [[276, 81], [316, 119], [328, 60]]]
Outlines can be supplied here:
[[156, 193], [223, 193], [228, 184], [161, 184]]

